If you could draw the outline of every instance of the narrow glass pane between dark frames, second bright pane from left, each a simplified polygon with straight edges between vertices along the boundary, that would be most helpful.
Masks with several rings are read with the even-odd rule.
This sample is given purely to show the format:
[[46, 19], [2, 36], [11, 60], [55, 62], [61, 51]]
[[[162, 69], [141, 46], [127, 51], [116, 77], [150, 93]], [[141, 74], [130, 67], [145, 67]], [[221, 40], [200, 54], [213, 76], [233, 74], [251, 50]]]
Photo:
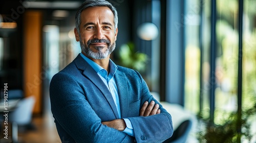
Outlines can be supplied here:
[[210, 1], [201, 1], [200, 12], [200, 111], [199, 115], [203, 118], [210, 117], [210, 95], [211, 86], [210, 77], [210, 40], [211, 40], [211, 3]]

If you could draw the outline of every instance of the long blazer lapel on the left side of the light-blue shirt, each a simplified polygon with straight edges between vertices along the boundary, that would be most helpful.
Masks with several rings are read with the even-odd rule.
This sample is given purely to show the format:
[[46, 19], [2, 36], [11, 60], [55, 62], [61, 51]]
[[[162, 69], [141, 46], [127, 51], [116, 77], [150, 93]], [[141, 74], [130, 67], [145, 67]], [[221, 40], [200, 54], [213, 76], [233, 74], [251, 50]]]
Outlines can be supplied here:
[[112, 94], [108, 87], [106, 87], [104, 82], [101, 80], [99, 75], [80, 55], [77, 56], [75, 63], [77, 65], [77, 68], [83, 70], [82, 74], [87, 77], [92, 83], [94, 83], [94, 85], [102, 92], [105, 99], [109, 102], [109, 105], [111, 106], [116, 118], [119, 118]]

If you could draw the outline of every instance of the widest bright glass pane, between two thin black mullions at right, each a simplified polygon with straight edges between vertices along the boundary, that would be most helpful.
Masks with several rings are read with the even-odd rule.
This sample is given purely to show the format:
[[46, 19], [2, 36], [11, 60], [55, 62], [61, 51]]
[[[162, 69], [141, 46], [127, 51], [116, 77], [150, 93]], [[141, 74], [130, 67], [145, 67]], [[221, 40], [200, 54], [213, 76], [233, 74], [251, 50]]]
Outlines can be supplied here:
[[215, 123], [238, 110], [238, 1], [217, 1]]

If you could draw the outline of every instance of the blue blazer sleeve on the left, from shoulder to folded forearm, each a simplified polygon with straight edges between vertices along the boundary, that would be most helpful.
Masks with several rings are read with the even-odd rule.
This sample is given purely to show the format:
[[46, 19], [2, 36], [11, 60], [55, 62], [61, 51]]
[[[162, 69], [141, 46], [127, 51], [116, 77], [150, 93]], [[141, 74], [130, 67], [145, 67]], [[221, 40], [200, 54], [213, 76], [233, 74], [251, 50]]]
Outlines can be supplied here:
[[58, 134], [69, 142], [133, 142], [134, 138], [101, 124], [80, 85], [68, 74], [56, 74], [50, 83], [51, 110]]

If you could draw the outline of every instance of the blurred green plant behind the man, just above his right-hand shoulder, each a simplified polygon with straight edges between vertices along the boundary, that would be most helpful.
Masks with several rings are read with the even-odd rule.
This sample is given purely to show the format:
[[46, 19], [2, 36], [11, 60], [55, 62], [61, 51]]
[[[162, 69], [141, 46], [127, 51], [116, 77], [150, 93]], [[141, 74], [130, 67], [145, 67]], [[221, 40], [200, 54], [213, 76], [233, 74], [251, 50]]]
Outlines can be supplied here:
[[133, 42], [121, 45], [118, 55], [119, 65], [138, 70], [139, 72], [145, 71], [147, 55], [136, 52]]

